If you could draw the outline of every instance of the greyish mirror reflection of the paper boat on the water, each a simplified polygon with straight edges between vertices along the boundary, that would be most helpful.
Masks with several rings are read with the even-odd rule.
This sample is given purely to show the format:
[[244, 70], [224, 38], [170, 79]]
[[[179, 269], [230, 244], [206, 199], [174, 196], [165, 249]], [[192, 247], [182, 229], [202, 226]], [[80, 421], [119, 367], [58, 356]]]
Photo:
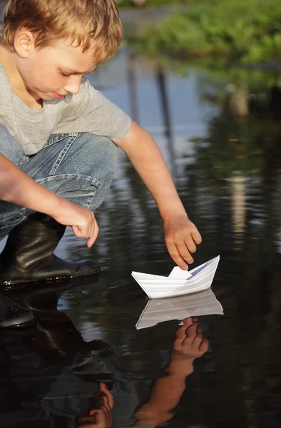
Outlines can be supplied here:
[[184, 320], [200, 315], [223, 315], [223, 307], [212, 290], [195, 292], [193, 295], [149, 300], [136, 324], [137, 330], [151, 327], [158, 322]]

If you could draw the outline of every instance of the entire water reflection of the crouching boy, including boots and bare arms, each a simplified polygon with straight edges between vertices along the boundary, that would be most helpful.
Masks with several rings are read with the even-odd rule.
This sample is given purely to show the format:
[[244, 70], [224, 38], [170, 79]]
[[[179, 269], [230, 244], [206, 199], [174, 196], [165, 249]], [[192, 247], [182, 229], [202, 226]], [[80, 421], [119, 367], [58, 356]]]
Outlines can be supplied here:
[[144, 427], [171, 419], [194, 360], [208, 350], [197, 320], [187, 317], [177, 329], [165, 376], [155, 380], [140, 404], [113, 347], [103, 340], [86, 342], [58, 312], [61, 291], [36, 285], [11, 292], [26, 302], [39, 325], [31, 332], [5, 331], [1, 337], [0, 426]]

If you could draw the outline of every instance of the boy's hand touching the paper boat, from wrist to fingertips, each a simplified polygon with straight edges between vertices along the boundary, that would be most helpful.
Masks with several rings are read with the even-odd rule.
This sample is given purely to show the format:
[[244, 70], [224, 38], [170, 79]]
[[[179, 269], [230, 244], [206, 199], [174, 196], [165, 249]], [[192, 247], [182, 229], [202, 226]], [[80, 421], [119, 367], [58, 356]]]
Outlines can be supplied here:
[[163, 231], [170, 257], [180, 269], [187, 270], [185, 261], [193, 263], [190, 253], [195, 253], [196, 244], [202, 242], [198, 229], [187, 215], [178, 215], [163, 221]]

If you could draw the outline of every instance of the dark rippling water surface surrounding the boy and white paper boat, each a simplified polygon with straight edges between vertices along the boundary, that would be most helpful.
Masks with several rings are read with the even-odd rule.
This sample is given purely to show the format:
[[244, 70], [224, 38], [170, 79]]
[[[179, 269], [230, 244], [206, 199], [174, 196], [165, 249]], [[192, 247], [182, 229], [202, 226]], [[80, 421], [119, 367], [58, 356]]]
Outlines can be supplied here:
[[71, 417], [87, 408], [99, 380], [116, 391], [115, 426], [131, 426], [145, 402], [150, 424], [175, 407], [170, 427], [281, 426], [280, 76], [176, 68], [121, 51], [91, 78], [163, 151], [203, 236], [195, 265], [220, 255], [213, 292], [224, 315], [198, 317], [208, 352], [193, 374], [172, 370], [157, 389], [180, 326], [170, 320], [136, 330], [147, 299], [131, 271], [166, 275], [173, 262], [157, 208], [119, 153], [116, 180], [96, 213], [96, 245], [88, 250], [69, 230], [56, 250], [68, 260], [94, 258], [105, 272], [9, 294], [40, 324], [24, 335], [1, 333], [1, 427], [76, 426]]

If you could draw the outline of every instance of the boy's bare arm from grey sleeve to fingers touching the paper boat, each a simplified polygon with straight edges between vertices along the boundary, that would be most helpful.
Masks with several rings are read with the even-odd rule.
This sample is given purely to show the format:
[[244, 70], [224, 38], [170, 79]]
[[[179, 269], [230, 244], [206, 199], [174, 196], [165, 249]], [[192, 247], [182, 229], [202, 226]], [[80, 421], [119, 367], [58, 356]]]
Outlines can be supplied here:
[[185, 212], [160, 149], [149, 133], [136, 122], [132, 122], [125, 137], [114, 143], [133, 163], [158, 206], [171, 258], [182, 269], [188, 269], [185, 261], [193, 263], [190, 253], [196, 251], [195, 244], [200, 244], [202, 238]]

